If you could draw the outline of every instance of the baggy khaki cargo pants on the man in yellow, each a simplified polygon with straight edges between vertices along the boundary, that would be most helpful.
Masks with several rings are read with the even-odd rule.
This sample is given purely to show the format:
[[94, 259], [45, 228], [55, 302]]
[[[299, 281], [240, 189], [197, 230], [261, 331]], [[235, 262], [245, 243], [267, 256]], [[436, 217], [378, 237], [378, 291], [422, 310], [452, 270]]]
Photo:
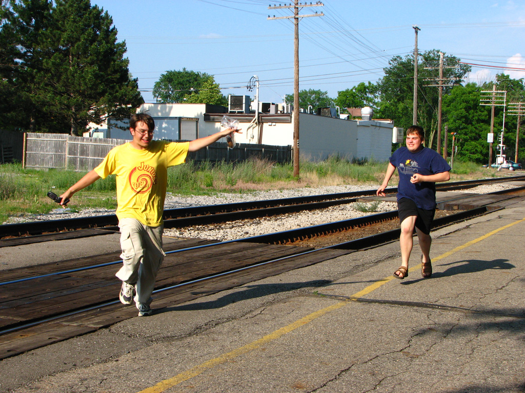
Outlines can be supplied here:
[[116, 276], [135, 285], [135, 303], [151, 302], [155, 278], [164, 259], [162, 250], [163, 225], [147, 226], [137, 219], [119, 221], [122, 267]]

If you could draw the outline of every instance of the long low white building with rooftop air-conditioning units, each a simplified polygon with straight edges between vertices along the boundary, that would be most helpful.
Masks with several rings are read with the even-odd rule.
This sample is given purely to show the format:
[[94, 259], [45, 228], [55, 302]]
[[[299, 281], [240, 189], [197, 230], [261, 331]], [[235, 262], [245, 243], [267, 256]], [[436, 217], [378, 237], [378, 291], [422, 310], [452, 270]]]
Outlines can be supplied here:
[[[230, 108], [231, 109], [231, 108]], [[299, 113], [299, 152], [301, 157], [317, 161], [337, 155], [346, 159], [385, 161], [391, 156], [396, 129], [391, 121], [371, 120], [370, 108], [363, 108], [361, 120]], [[146, 112], [155, 120], [155, 139], [182, 139], [212, 135], [220, 130], [224, 115], [237, 119], [241, 144], [274, 146], [293, 145], [292, 113], [255, 113], [230, 111], [208, 104], [143, 104], [137, 112]], [[272, 108], [272, 112], [279, 112]], [[131, 139], [129, 122], [108, 121], [101, 137]]]

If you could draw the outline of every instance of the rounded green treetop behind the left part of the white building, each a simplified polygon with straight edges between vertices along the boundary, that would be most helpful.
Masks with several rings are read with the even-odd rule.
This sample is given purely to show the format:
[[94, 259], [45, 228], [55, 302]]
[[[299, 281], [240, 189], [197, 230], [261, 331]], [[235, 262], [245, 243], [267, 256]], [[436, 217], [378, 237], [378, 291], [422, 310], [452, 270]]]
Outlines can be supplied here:
[[[166, 71], [153, 86], [153, 97], [158, 103], [177, 102], [227, 105], [228, 100], [220, 93], [219, 85], [212, 75], [183, 68]], [[212, 102], [205, 102], [206, 99]]]

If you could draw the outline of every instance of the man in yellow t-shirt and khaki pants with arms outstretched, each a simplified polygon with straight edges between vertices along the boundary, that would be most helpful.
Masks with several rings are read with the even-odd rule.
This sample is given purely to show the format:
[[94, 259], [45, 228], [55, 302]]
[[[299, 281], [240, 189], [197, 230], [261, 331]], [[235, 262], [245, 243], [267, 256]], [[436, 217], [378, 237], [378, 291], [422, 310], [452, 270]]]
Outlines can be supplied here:
[[116, 174], [116, 214], [122, 249], [122, 267], [116, 274], [122, 280], [119, 299], [123, 304], [134, 301], [139, 316], [152, 314], [151, 294], [165, 255], [162, 250], [162, 213], [167, 168], [183, 163], [188, 151], [197, 151], [232, 132], [239, 132], [227, 128], [191, 142], [177, 143], [153, 140], [154, 128], [155, 122], [150, 115], [138, 113], [131, 116], [133, 139], [111, 149], [98, 167], [60, 195], [65, 201], [98, 179]]

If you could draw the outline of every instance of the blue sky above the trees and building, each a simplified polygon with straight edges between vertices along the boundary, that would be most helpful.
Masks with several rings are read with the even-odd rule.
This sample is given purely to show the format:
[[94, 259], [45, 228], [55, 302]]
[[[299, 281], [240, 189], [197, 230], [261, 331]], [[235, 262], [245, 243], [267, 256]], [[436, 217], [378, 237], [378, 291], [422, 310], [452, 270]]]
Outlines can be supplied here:
[[[214, 75], [224, 95], [283, 102], [293, 93], [293, 8], [263, 0], [91, 0], [113, 18], [129, 70], [147, 103], [170, 70]], [[300, 0], [304, 3], [304, 0]], [[308, 2], [310, 4], [310, 2]], [[316, 4], [315, 1], [312, 4]], [[497, 73], [525, 77], [525, 2], [491, 0], [325, 0], [299, 15], [299, 89], [335, 99], [360, 82], [375, 83], [394, 56], [437, 49], [473, 64], [468, 81]], [[432, 64], [435, 65], [435, 64]], [[254, 78], [255, 79], [255, 78]], [[256, 83], [254, 84], [256, 86]]]

